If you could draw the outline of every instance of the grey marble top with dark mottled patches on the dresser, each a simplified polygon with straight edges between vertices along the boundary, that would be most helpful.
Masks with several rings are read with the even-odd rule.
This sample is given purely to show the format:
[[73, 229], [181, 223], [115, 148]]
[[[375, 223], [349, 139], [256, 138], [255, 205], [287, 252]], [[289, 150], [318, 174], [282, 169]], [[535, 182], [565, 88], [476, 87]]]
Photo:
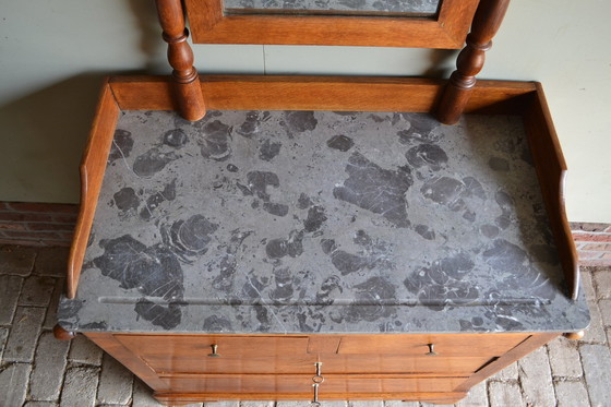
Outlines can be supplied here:
[[72, 331], [577, 331], [519, 117], [124, 111]]

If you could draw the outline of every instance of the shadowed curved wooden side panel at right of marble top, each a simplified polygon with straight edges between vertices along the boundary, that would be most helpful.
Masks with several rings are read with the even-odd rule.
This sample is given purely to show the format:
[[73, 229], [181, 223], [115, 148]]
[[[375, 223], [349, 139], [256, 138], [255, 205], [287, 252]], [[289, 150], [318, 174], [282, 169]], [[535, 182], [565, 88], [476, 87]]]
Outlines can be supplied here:
[[579, 265], [577, 249], [573, 241], [564, 204], [566, 163], [560, 147], [543, 88], [540, 83], [536, 83], [536, 86], [535, 98], [525, 116], [526, 130], [535, 157], [543, 202], [546, 203], [554, 241], [560, 254], [568, 297], [576, 300], [579, 292]]

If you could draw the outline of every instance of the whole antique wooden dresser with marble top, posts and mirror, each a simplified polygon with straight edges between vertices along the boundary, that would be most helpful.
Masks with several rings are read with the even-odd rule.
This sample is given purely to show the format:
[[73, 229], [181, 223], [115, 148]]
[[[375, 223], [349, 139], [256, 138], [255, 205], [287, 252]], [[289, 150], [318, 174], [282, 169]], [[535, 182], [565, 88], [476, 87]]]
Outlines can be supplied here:
[[[167, 404], [450, 404], [579, 337], [541, 86], [475, 80], [508, 1], [184, 3], [171, 79], [104, 84], [56, 336]], [[450, 81], [199, 76], [183, 5], [196, 43], [467, 46]]]

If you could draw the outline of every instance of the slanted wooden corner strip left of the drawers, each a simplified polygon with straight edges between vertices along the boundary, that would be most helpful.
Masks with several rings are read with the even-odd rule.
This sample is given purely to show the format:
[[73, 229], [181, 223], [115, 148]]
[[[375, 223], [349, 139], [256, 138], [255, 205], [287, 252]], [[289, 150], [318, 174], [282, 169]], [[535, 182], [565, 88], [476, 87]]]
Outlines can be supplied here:
[[169, 391], [169, 385], [157, 373], [132, 351], [127, 349], [112, 334], [83, 333], [88, 339], [99, 346], [104, 351], [117, 359], [121, 364], [131, 370], [151, 388], [160, 392]]

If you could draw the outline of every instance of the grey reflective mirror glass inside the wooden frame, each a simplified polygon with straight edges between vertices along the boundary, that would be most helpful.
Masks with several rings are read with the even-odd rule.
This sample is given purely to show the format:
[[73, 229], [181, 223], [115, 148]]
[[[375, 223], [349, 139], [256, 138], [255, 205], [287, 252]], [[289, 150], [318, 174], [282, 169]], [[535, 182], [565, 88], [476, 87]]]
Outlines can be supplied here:
[[226, 14], [433, 16], [442, 0], [224, 0]]

